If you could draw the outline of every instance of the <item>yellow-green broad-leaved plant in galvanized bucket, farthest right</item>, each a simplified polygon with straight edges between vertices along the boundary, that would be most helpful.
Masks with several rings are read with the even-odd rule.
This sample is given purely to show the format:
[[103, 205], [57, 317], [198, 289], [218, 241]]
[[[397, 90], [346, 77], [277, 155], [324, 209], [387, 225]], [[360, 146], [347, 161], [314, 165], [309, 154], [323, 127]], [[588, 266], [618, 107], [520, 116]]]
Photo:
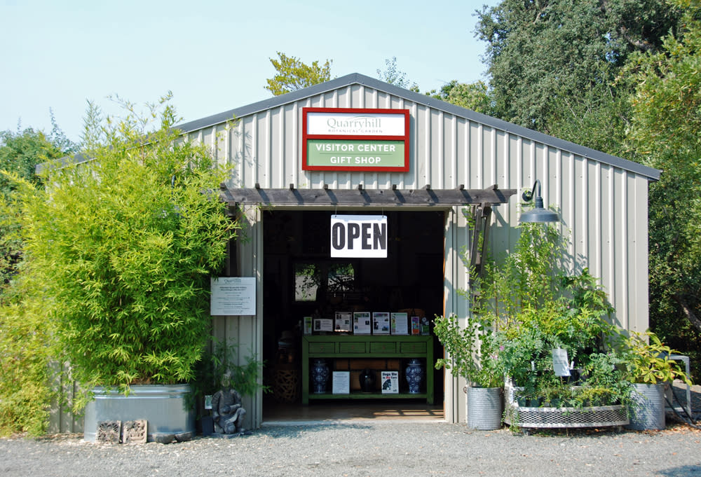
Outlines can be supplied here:
[[628, 379], [632, 383], [630, 429], [665, 429], [665, 384], [681, 379], [692, 382], [676, 361], [676, 353], [651, 331], [631, 333], [623, 339]]

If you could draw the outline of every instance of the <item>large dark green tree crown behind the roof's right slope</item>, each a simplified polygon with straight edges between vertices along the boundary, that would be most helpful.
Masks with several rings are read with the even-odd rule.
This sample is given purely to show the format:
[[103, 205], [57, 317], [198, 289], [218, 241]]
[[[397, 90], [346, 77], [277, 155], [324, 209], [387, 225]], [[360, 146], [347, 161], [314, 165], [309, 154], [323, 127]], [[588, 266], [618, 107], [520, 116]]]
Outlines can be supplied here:
[[596, 111], [630, 53], [660, 48], [678, 18], [665, 0], [503, 0], [477, 15], [494, 114], [546, 133], [565, 99]]

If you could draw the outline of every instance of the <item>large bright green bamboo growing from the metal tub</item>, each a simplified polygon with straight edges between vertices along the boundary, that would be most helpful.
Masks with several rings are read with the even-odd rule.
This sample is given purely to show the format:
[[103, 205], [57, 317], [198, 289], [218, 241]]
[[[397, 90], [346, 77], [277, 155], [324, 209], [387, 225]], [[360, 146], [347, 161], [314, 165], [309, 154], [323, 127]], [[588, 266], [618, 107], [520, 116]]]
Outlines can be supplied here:
[[169, 100], [145, 116], [121, 102], [121, 119], [91, 105], [91, 160], [47, 167], [46, 191], [5, 173], [18, 186], [29, 292], [88, 389], [190, 380], [207, 340], [210, 274], [236, 233], [218, 198], [230, 171], [172, 129]]

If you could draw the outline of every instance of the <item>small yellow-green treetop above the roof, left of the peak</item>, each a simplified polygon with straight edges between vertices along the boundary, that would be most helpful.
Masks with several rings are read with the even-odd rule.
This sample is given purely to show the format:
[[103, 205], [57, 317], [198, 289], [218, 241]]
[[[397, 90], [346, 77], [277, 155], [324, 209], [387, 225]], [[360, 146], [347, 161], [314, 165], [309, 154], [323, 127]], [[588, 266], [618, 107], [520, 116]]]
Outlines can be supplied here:
[[287, 56], [278, 51], [278, 59], [270, 59], [277, 74], [273, 78], [268, 78], [266, 90], [275, 96], [284, 95], [287, 92], [301, 90], [311, 85], [324, 83], [331, 79], [332, 60], [320, 66], [318, 61], [311, 65], [305, 64], [294, 56]]

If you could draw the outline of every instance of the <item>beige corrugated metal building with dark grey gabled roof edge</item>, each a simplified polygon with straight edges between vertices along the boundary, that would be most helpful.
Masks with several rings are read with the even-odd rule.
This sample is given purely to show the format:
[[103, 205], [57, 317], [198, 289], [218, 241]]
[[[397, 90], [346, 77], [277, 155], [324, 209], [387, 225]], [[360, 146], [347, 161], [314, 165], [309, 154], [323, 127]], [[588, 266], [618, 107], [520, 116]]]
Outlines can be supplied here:
[[[408, 110], [408, 172], [304, 170], [303, 108], [310, 107]], [[233, 118], [236, 121], [229, 123]], [[240, 205], [247, 223], [246, 240], [239, 240], [232, 251], [235, 259], [229, 272], [231, 276], [256, 278], [257, 314], [213, 320], [215, 337], [237, 343], [241, 354], [250, 351], [268, 361], [274, 359], [280, 327], [271, 322], [286, 314], [280, 302], [289, 301], [290, 293], [294, 293], [287, 290], [289, 287], [280, 288], [277, 279], [292, 273], [290, 242], [309, 235], [308, 228], [313, 228], [317, 219], [306, 219], [313, 214], [322, 214], [324, 221], [328, 221], [330, 214], [359, 210], [388, 214], [390, 221], [400, 222], [395, 230], [397, 240], [401, 240], [402, 234], [409, 234], [420, 241], [423, 233], [430, 232], [426, 229], [440, 228], [437, 245], [440, 249], [433, 248], [434, 237], [431, 245], [426, 242], [430, 250], [422, 250], [419, 242], [409, 256], [400, 256], [399, 265], [389, 259], [388, 263], [404, 267], [393, 268], [395, 274], [416, 275], [418, 268], [419, 281], [421, 270], [440, 270], [443, 275], [438, 285], [442, 289], [440, 303], [426, 307], [427, 314], [456, 313], [464, 317], [468, 313], [465, 300], [456, 293], [468, 287], [468, 270], [460, 252], [469, 246], [471, 234], [462, 206], [451, 205], [449, 200], [424, 200], [422, 205], [396, 202], [369, 205], [367, 198], [365, 202], [358, 199], [356, 205], [311, 200], [329, 192], [341, 196], [343, 191], [355, 191], [362, 196], [363, 191], [389, 193], [393, 189], [404, 193], [426, 192], [428, 186], [430, 191], [437, 191], [440, 199], [443, 193], [447, 196], [447, 191], [459, 190], [461, 186], [470, 191], [488, 189], [495, 184], [502, 191], [515, 189], [517, 197], [492, 207], [489, 247], [498, 254], [508, 251], [515, 243], [520, 194], [539, 179], [546, 207], [559, 210], [560, 226], [571, 234], [569, 254], [573, 257], [573, 268], [588, 267], [592, 275], [601, 277], [620, 326], [636, 331], [648, 327], [648, 181], [659, 178], [658, 170], [360, 74], [336, 78], [180, 127], [191, 139], [210, 145], [219, 160], [235, 166], [225, 191], [232, 203], [237, 202], [236, 193], [242, 188], [249, 193], [258, 191], [271, 196], [275, 191], [286, 190], [299, 199], [297, 203], [275, 203], [271, 208], [259, 207], [250, 200]], [[440, 219], [435, 220], [435, 216]], [[290, 220], [296, 224], [290, 226], [292, 229], [284, 223]], [[278, 227], [280, 234], [276, 235], [270, 228], [266, 230], [266, 224], [270, 223]], [[297, 234], [288, 233], [290, 230], [297, 230]], [[329, 239], [325, 236], [323, 240], [328, 243]], [[416, 284], [416, 276], [412, 283]], [[421, 305], [407, 297], [414, 290], [418, 290], [418, 297], [424, 292], [421, 286], [409, 289], [409, 293], [405, 291], [406, 307]], [[432, 299], [435, 303], [435, 298]], [[295, 310], [287, 312], [294, 314]], [[284, 319], [296, 323], [301, 316], [284, 316]], [[467, 412], [462, 392], [464, 383], [450, 378], [449, 374], [440, 374], [436, 382], [442, 390], [437, 389], [436, 395], [444, 399], [446, 420], [463, 422]], [[249, 425], [261, 425], [265, 420], [262, 394], [246, 403], [246, 407]]]

